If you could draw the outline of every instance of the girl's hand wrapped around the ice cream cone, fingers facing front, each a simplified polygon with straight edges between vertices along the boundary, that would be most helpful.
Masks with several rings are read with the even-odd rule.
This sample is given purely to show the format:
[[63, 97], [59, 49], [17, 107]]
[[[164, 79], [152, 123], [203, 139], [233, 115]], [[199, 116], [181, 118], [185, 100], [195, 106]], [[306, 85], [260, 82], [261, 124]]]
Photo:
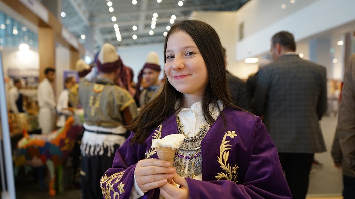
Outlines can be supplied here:
[[174, 171], [168, 161], [145, 159], [138, 161], [134, 176], [140, 190], [147, 192], [166, 184], [174, 177]]

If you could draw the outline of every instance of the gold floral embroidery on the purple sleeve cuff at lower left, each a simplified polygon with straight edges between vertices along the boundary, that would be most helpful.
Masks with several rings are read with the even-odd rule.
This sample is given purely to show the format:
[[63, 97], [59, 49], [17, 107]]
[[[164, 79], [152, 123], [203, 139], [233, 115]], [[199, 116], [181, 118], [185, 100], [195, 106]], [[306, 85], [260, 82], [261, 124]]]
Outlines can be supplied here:
[[[124, 172], [125, 171], [115, 173], [109, 177], [107, 177], [107, 175], [105, 174], [105, 176], [101, 178], [100, 185], [101, 185], [102, 195], [104, 196], [104, 198], [119, 199], [120, 195], [125, 192], [123, 189], [125, 184], [123, 184], [122, 182], [120, 182], [120, 184], [117, 186], [117, 189], [119, 190], [119, 192], [116, 192], [114, 190], [114, 185], [121, 180]], [[111, 191], [114, 193], [113, 198], [111, 198], [111, 195], [110, 195]]]

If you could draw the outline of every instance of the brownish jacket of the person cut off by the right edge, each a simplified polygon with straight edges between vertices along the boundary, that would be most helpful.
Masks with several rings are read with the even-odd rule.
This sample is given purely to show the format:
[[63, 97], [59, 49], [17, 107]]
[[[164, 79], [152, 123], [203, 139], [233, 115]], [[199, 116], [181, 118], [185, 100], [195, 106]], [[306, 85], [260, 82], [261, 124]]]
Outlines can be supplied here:
[[343, 156], [355, 170], [355, 53], [345, 68], [337, 131]]

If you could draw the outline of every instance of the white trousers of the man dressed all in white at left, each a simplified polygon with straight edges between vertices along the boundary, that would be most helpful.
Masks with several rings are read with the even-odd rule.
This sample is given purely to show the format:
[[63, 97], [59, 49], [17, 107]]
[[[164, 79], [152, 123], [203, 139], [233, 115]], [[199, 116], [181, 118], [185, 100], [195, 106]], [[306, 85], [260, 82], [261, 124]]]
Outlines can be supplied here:
[[55, 130], [55, 110], [51, 108], [40, 108], [38, 112], [38, 124], [41, 128], [42, 134], [49, 133]]

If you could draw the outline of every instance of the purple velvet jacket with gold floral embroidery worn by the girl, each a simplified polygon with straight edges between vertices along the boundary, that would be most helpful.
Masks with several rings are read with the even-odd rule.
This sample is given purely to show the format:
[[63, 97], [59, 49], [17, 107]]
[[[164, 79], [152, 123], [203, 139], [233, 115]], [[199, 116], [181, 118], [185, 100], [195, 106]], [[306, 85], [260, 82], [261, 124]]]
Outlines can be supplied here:
[[[202, 181], [186, 178], [190, 198], [292, 198], [277, 150], [261, 119], [224, 108], [202, 140]], [[175, 115], [168, 117], [143, 144], [130, 145], [133, 133], [116, 151], [111, 169], [101, 178], [104, 198], [129, 198], [136, 163], [158, 158], [152, 140], [177, 133]], [[142, 198], [159, 198], [159, 189]], [[118, 197], [117, 197], [118, 196]]]

